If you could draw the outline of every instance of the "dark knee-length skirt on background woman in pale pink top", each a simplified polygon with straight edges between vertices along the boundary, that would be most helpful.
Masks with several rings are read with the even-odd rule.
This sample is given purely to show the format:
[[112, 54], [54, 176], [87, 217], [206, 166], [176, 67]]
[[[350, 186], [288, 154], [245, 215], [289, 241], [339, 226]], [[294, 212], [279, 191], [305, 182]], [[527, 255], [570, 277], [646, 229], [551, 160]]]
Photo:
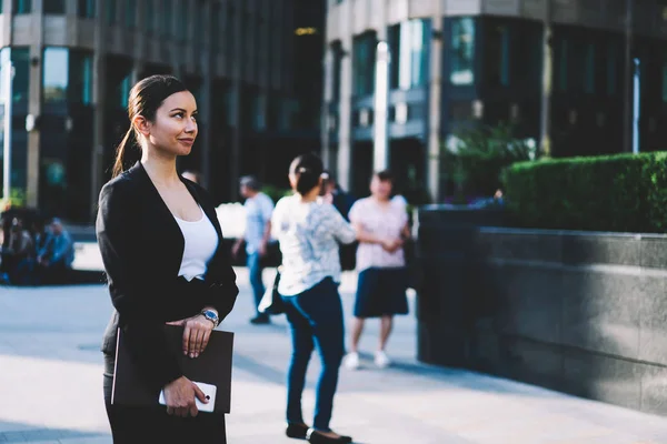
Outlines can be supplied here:
[[408, 270], [406, 268], [366, 269], [357, 281], [356, 317], [407, 314]]

